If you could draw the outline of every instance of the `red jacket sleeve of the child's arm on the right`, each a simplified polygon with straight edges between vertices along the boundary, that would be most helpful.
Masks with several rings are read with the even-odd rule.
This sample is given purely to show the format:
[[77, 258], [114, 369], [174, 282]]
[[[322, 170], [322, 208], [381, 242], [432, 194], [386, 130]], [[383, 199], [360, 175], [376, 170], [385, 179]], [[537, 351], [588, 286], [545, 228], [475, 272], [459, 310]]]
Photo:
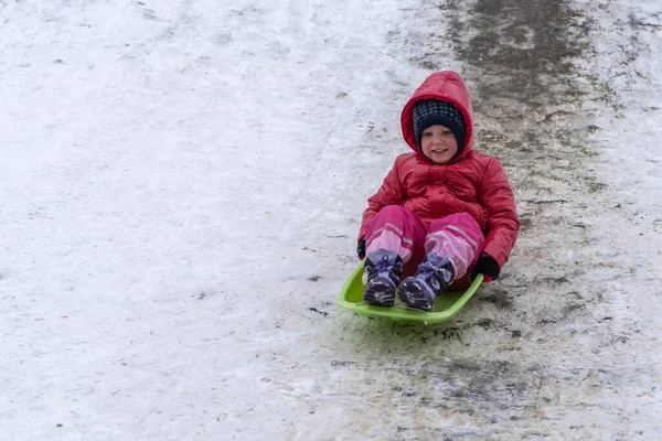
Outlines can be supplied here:
[[520, 218], [505, 170], [493, 158], [489, 161], [480, 182], [478, 196], [480, 204], [489, 214], [488, 234], [482, 254], [494, 259], [501, 269], [517, 239]]

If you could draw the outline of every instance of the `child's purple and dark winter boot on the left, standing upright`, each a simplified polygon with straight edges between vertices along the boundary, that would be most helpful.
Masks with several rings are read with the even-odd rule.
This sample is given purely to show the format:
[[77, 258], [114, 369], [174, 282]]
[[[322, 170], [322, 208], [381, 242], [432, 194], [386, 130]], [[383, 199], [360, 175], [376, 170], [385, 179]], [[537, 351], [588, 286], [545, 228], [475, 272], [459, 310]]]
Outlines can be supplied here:
[[375, 306], [393, 306], [403, 275], [403, 259], [395, 251], [377, 249], [365, 258], [367, 284], [363, 300]]

